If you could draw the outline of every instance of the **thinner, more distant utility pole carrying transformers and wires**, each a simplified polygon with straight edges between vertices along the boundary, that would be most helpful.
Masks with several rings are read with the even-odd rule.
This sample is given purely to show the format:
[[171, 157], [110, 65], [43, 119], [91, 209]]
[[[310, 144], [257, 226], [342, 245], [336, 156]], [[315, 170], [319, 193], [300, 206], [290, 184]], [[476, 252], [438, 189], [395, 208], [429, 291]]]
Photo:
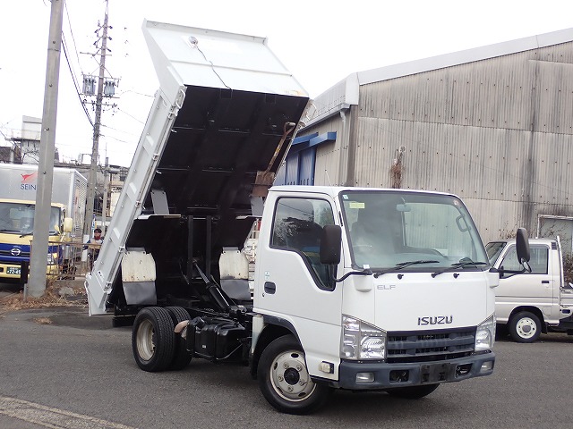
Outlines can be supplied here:
[[99, 61], [98, 77], [98, 95], [96, 97], [96, 121], [93, 125], [93, 145], [91, 147], [91, 164], [90, 179], [88, 182], [88, 201], [86, 204], [86, 215], [83, 223], [83, 235], [88, 239], [91, 236], [91, 220], [93, 219], [93, 200], [96, 197], [96, 183], [98, 179], [98, 146], [99, 146], [99, 128], [101, 125], [101, 110], [104, 98], [104, 79], [106, 73], [106, 54], [107, 54], [107, 0], [106, 15], [104, 17], [103, 33], [101, 40], [101, 54]]

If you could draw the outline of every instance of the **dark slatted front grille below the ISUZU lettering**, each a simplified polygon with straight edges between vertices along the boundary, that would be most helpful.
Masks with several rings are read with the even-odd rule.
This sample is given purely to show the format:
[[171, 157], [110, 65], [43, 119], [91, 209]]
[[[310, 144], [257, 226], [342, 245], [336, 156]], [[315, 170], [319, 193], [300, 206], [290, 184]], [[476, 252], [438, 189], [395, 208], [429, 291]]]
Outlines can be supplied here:
[[466, 357], [474, 351], [475, 328], [388, 332], [388, 362], [427, 362]]

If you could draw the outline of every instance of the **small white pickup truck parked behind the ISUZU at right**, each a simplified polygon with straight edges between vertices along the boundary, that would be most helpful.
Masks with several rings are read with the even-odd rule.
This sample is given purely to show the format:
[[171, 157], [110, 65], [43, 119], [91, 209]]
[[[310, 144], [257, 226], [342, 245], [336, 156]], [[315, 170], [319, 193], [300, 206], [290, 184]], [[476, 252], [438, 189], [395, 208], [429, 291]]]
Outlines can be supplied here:
[[516, 240], [487, 244], [490, 263], [500, 272], [495, 315], [517, 342], [534, 342], [542, 332], [573, 335], [573, 288], [566, 284], [559, 238], [531, 239], [530, 273], [520, 271]]

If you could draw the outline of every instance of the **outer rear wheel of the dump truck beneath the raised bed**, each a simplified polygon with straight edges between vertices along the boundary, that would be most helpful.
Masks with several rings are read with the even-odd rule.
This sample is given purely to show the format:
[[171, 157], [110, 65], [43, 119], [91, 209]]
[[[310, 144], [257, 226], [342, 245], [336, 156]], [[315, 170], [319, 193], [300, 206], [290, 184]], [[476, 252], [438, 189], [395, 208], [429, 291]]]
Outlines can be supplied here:
[[132, 349], [135, 362], [143, 371], [163, 371], [173, 362], [175, 325], [161, 307], [143, 308], [135, 317]]

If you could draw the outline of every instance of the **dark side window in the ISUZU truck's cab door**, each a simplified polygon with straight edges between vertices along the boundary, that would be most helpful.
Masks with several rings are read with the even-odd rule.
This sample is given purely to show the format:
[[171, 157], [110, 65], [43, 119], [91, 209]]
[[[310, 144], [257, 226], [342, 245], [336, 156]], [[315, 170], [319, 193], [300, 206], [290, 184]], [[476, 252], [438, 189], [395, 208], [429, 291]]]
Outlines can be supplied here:
[[328, 267], [321, 265], [321, 234], [324, 225], [334, 223], [328, 201], [312, 198], [280, 198], [277, 202], [270, 245], [301, 253], [320, 280], [329, 284]]

